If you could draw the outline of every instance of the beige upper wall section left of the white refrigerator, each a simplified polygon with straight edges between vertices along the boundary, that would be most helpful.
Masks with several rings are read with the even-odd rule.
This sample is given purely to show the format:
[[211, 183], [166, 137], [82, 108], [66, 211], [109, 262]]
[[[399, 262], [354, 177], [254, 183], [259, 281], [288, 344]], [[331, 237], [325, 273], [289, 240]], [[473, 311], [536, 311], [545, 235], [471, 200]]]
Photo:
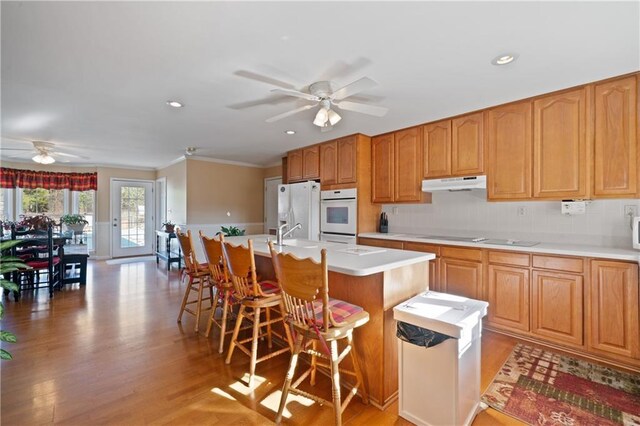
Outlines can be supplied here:
[[187, 222], [262, 222], [264, 173], [258, 167], [188, 159]]

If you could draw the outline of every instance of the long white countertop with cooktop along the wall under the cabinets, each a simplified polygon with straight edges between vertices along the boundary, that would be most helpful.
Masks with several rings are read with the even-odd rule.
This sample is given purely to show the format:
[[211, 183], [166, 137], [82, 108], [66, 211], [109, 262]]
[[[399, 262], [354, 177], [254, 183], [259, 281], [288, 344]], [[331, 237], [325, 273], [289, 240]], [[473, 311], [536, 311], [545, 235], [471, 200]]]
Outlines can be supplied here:
[[548, 253], [565, 256], [597, 257], [604, 259], [627, 260], [640, 262], [640, 251], [617, 247], [591, 246], [579, 244], [558, 244], [541, 242], [532, 247], [518, 247], [509, 244], [486, 244], [482, 242], [474, 243], [467, 241], [449, 241], [430, 238], [421, 238], [419, 235], [378, 232], [367, 232], [358, 234], [362, 238], [377, 238], [381, 240], [411, 241], [416, 243], [438, 244], [447, 246], [474, 247], [494, 250], [523, 251], [527, 253]]

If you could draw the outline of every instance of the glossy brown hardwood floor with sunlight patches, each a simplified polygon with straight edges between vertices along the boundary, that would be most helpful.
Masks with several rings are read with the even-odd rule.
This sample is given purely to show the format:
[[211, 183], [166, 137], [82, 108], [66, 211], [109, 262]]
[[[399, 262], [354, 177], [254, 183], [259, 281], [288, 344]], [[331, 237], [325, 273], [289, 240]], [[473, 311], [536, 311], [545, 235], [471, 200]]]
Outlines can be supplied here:
[[[194, 334], [193, 317], [176, 323], [184, 284], [175, 270], [155, 262], [93, 261], [87, 280], [86, 287], [67, 286], [52, 300], [45, 290], [19, 302], [3, 296], [2, 328], [13, 331], [18, 343], [3, 346], [14, 360], [2, 361], [2, 424], [273, 423], [287, 355], [259, 364], [249, 389], [242, 381], [248, 358], [237, 351], [225, 365], [218, 330], [207, 339]], [[204, 330], [204, 316], [201, 321]], [[516, 342], [485, 333], [483, 389]], [[323, 375], [316, 388], [330, 395]], [[331, 408], [307, 404], [289, 402], [283, 423], [332, 424]], [[349, 425], [411, 424], [398, 417], [397, 403], [380, 411], [358, 398], [343, 419]], [[474, 422], [517, 423], [492, 409]]]

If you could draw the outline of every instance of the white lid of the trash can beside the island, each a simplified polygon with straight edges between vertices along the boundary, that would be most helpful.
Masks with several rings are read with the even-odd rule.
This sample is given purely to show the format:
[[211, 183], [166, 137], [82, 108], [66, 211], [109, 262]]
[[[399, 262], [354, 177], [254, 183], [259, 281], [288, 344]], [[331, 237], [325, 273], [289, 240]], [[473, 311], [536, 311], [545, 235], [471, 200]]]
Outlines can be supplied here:
[[393, 317], [459, 339], [487, 314], [488, 306], [482, 300], [428, 291], [393, 308]]

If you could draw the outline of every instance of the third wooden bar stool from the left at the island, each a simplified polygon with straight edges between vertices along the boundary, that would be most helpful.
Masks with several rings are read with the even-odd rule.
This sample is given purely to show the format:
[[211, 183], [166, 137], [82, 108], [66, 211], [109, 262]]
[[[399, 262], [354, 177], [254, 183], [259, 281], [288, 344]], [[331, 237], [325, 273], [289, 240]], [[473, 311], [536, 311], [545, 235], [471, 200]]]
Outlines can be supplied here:
[[[282, 315], [282, 297], [280, 297], [280, 289], [274, 282], [263, 281], [258, 282], [256, 276], [256, 264], [253, 255], [253, 241], [249, 240], [248, 246], [242, 245], [234, 246], [230, 243], [223, 241], [222, 250], [224, 254], [225, 268], [231, 275], [231, 281], [234, 287], [234, 297], [240, 300], [240, 310], [238, 311], [238, 319], [233, 330], [233, 337], [231, 338], [231, 345], [229, 346], [229, 353], [227, 354], [226, 363], [231, 362], [233, 351], [237, 347], [251, 359], [249, 364], [249, 386], [253, 382], [253, 377], [256, 371], [256, 364], [267, 359], [273, 358], [277, 355], [291, 351], [292, 342], [289, 334], [289, 329], [284, 323], [284, 317]], [[273, 317], [271, 310], [277, 308], [277, 316]], [[261, 313], [265, 313], [265, 319], [261, 320]], [[243, 319], [248, 319], [253, 322], [253, 332], [251, 337], [238, 340], [238, 334], [242, 326]], [[272, 324], [282, 323], [286, 334], [286, 342], [288, 346], [276, 351], [272, 351], [267, 355], [263, 355], [258, 358], [258, 340], [262, 337], [267, 337], [267, 345], [272, 347], [272, 334], [285, 339], [285, 337], [277, 334], [272, 330]], [[262, 328], [266, 326], [266, 333], [262, 332]], [[245, 346], [245, 343], [251, 342], [251, 349]]]

